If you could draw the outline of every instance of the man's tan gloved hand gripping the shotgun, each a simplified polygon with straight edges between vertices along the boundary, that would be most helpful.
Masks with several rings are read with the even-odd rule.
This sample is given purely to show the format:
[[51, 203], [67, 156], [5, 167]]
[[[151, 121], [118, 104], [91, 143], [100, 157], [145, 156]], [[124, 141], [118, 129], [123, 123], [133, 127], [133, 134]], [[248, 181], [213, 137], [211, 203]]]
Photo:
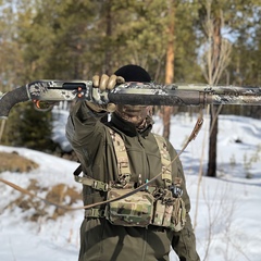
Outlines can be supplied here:
[[102, 74], [101, 76], [95, 75], [92, 77], [92, 99], [94, 102], [87, 102], [87, 105], [97, 112], [115, 111], [116, 105], [114, 103], [103, 104], [100, 94], [103, 91], [112, 90], [116, 85], [124, 84], [125, 79], [121, 76]]

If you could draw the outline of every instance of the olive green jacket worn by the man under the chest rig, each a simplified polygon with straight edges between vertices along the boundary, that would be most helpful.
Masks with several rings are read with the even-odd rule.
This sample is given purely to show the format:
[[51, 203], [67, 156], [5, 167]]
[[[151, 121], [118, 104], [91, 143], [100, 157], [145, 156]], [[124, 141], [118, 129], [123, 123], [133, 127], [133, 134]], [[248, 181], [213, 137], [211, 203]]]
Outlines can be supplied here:
[[[109, 183], [117, 179], [117, 163], [109, 125], [124, 140], [132, 172], [133, 182], [138, 182], [138, 175], [145, 182], [161, 172], [161, 156], [153, 134], [152, 123], [142, 130], [116, 114], [105, 125], [100, 122], [107, 113], [96, 113], [88, 109], [85, 102], [77, 102], [67, 121], [66, 137], [76, 152], [83, 171], [95, 179]], [[167, 141], [167, 150], [174, 159], [176, 151]], [[183, 199], [186, 210], [190, 210], [190, 201], [186, 190], [185, 176], [179, 160], [172, 165], [173, 179], [179, 176], [184, 179]], [[157, 186], [162, 186], [157, 181]], [[83, 186], [84, 204], [99, 202], [105, 199], [105, 192]], [[101, 207], [103, 208], [103, 207]], [[183, 261], [199, 261], [196, 252], [195, 235], [189, 214], [184, 229], [178, 233], [157, 227], [126, 227], [112, 225], [105, 219], [84, 219], [80, 227], [79, 261], [152, 261], [169, 260], [170, 245]]]

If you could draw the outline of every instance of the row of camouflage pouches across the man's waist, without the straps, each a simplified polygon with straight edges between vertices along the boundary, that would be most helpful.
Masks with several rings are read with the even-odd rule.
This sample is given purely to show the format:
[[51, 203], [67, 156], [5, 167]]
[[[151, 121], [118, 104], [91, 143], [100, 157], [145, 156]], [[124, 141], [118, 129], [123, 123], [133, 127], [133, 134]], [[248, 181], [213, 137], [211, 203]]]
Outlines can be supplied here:
[[[130, 189], [113, 188], [108, 192], [108, 199], [114, 199], [129, 192]], [[183, 199], [169, 198], [169, 201], [156, 200], [147, 191], [138, 191], [126, 198], [108, 204], [105, 216], [113, 225], [164, 226], [178, 232], [186, 223], [186, 209]]]

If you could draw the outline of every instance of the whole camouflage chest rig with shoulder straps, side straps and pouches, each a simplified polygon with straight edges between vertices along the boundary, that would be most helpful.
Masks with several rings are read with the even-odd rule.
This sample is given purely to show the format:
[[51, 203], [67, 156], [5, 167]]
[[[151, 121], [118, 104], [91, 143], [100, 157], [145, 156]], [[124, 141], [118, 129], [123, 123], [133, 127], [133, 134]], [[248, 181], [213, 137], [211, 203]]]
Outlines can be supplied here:
[[[116, 132], [109, 128], [112, 137], [114, 152], [117, 160], [117, 181], [110, 184], [96, 181], [89, 176], [79, 176], [74, 173], [76, 182], [90, 186], [96, 190], [107, 191], [107, 199], [115, 199], [124, 196], [133, 189], [130, 183], [132, 172], [125, 144]], [[172, 181], [172, 160], [167, 151], [166, 140], [153, 134], [161, 156], [161, 170], [163, 187], [147, 186], [145, 190], [137, 191], [132, 196], [109, 203], [105, 208], [104, 217], [114, 225], [163, 226], [173, 231], [181, 231], [186, 221], [186, 209], [182, 200], [182, 178]], [[142, 185], [138, 178], [136, 186]], [[98, 209], [86, 210], [86, 217], [103, 217]]]

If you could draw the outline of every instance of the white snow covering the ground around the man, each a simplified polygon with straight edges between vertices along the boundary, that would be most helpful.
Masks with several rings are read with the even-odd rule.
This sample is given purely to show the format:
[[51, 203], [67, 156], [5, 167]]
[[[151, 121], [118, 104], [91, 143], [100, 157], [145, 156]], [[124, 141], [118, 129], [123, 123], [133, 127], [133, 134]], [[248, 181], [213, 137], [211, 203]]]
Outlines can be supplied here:
[[[53, 137], [62, 148], [70, 149], [64, 138], [67, 112], [54, 111]], [[162, 124], [154, 117], [154, 132]], [[170, 140], [179, 151], [197, 121], [197, 115], [177, 114], [172, 117]], [[198, 137], [181, 156], [191, 200], [191, 222], [195, 225], [197, 249], [201, 260], [261, 260], [261, 123], [259, 120], [234, 115], [219, 116], [217, 178], [199, 177], [207, 169], [209, 117]], [[25, 148], [0, 146], [0, 151], [17, 151], [40, 167], [30, 173], [4, 172], [0, 177], [26, 188], [30, 178], [41, 186], [65, 183], [80, 191], [73, 179], [77, 163]], [[201, 160], [202, 159], [202, 160]], [[201, 166], [202, 164], [202, 166]], [[200, 182], [200, 186], [198, 186]], [[79, 226], [84, 211], [71, 211], [55, 221], [26, 220], [34, 209], [5, 208], [21, 194], [0, 183], [0, 260], [1, 261], [75, 261], [79, 249]], [[39, 191], [45, 196], [45, 191]], [[82, 202], [74, 204], [82, 206]], [[53, 207], [49, 208], [53, 211]], [[47, 258], [48, 257], [48, 258]], [[171, 252], [171, 260], [178, 260]]]

